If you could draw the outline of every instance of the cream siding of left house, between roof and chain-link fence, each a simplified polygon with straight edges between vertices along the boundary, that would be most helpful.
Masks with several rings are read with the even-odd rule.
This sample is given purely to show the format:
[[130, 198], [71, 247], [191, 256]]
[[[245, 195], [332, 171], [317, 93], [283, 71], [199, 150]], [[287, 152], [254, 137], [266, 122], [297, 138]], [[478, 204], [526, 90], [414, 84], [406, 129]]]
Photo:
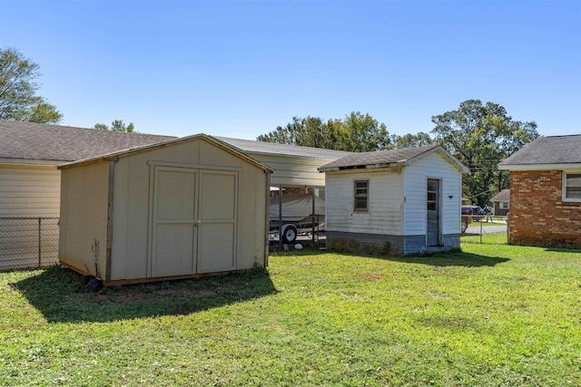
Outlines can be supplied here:
[[58, 217], [60, 176], [54, 166], [0, 164], [0, 218]]

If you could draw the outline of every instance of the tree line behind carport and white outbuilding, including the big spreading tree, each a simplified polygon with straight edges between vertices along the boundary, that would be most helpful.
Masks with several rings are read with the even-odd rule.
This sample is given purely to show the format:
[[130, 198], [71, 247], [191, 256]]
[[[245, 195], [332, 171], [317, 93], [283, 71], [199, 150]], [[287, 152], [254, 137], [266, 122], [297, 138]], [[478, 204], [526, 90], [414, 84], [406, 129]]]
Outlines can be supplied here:
[[469, 169], [462, 178], [463, 197], [485, 206], [498, 191], [509, 188], [509, 172], [499, 170], [497, 164], [538, 137], [537, 123], [513, 120], [503, 106], [493, 102], [468, 100], [431, 120], [430, 133], [400, 136], [389, 135], [384, 123], [359, 111], [343, 120], [293, 117], [257, 140], [353, 152], [438, 144]]

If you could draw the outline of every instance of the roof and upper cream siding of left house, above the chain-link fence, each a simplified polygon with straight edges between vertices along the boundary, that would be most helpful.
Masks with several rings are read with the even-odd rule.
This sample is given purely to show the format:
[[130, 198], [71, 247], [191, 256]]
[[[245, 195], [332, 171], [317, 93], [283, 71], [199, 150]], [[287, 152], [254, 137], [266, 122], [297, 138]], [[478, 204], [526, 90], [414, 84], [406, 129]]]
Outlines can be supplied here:
[[0, 120], [0, 218], [58, 217], [58, 164], [172, 139]]

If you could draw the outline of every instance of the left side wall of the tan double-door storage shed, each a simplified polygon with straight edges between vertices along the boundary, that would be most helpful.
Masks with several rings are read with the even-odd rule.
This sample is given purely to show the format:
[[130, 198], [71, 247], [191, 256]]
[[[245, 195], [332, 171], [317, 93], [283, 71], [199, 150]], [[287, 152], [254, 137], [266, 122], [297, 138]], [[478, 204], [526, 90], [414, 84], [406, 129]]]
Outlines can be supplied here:
[[93, 276], [104, 276], [109, 163], [95, 162], [61, 173], [59, 260]]

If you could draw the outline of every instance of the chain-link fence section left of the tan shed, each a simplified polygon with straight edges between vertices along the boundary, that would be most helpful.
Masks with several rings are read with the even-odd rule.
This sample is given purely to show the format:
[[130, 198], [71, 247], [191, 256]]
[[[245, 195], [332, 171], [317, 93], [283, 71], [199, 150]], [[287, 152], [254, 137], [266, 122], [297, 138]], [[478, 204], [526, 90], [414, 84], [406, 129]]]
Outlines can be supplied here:
[[58, 263], [58, 218], [0, 218], [0, 270]]

